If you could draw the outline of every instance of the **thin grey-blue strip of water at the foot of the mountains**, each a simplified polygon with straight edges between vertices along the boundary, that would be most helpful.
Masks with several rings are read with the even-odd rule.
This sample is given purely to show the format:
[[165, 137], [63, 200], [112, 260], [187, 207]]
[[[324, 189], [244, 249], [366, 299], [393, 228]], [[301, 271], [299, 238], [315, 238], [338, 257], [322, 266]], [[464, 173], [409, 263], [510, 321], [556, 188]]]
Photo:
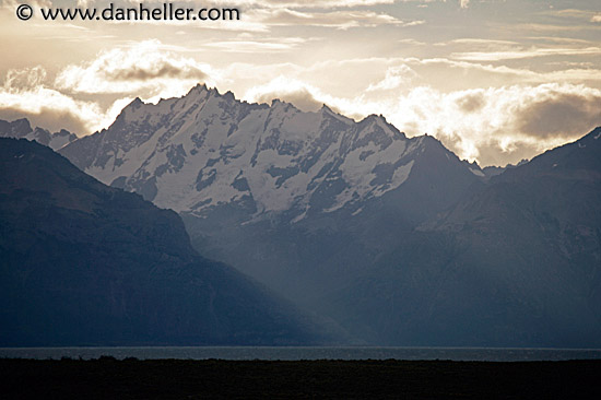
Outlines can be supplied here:
[[478, 348], [0, 348], [9, 358], [140, 360], [452, 360], [562, 361], [599, 360], [601, 349], [478, 349]]

